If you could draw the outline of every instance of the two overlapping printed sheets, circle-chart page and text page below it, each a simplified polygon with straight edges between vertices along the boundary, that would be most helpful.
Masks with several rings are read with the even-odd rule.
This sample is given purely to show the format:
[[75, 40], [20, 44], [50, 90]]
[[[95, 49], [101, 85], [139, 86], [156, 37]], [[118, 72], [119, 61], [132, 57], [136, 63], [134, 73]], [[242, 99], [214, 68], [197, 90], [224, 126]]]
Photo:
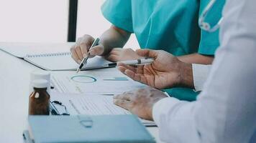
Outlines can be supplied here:
[[[81, 71], [79, 74], [52, 71], [51, 80], [55, 90], [51, 93], [52, 101], [63, 102], [69, 114], [131, 114], [113, 103], [113, 95], [147, 87], [117, 69]], [[142, 122], [146, 126], [155, 126], [151, 121]]]

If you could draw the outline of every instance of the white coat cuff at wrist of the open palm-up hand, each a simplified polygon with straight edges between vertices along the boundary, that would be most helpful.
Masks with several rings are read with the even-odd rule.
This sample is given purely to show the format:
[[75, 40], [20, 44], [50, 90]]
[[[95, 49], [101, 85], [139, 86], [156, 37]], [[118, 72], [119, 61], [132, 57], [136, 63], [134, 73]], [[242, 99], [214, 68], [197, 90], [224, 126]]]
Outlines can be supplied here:
[[204, 83], [209, 76], [211, 65], [205, 64], [192, 64], [193, 70], [193, 84], [195, 91], [199, 92], [203, 90]]

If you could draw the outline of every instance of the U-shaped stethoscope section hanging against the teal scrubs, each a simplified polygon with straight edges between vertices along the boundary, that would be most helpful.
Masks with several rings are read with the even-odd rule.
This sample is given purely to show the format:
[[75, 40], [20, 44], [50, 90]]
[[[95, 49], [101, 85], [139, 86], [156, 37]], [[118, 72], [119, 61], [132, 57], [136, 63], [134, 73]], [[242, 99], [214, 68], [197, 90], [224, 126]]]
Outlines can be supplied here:
[[223, 17], [221, 17], [218, 23], [215, 24], [214, 26], [211, 26], [211, 24], [205, 21], [208, 12], [211, 10], [212, 6], [214, 6], [215, 2], [216, 0], [211, 0], [209, 4], [206, 6], [206, 8], [204, 9], [204, 11], [202, 12], [201, 16], [199, 17], [198, 25], [201, 29], [205, 31], [209, 31], [209, 32], [216, 31], [217, 29], [219, 29], [219, 26], [221, 25], [221, 22], [223, 20]]

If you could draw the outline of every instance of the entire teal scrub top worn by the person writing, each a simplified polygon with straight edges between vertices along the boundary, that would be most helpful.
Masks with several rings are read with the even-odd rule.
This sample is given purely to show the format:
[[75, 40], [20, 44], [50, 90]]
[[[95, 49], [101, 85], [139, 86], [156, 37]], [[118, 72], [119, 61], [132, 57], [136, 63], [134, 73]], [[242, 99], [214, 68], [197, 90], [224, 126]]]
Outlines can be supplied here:
[[[209, 33], [198, 27], [198, 16], [210, 0], [106, 0], [101, 11], [116, 27], [134, 33], [140, 48], [162, 49], [175, 56], [214, 55], [219, 31]], [[215, 22], [223, 4], [216, 4], [206, 20]], [[187, 88], [166, 89], [178, 99], [193, 101], [197, 92]]]

